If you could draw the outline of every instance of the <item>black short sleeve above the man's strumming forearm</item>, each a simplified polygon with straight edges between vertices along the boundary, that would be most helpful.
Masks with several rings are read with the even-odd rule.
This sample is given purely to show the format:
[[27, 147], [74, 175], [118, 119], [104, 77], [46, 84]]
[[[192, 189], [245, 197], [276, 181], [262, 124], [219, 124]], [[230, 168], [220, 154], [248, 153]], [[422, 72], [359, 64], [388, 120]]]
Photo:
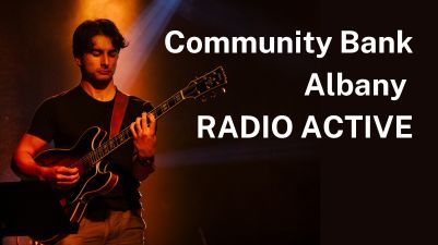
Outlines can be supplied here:
[[46, 142], [54, 138], [55, 133], [55, 103], [52, 98], [43, 101], [35, 111], [27, 134], [37, 136]]

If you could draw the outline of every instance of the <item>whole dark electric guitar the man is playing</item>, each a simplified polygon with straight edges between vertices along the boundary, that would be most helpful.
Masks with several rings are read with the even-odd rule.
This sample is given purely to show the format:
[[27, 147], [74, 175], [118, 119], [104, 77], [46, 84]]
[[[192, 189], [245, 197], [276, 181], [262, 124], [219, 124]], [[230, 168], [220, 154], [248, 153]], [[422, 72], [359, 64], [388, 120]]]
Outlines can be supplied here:
[[[163, 103], [154, 108], [153, 113], [159, 119], [170, 109], [186, 99], [204, 100], [206, 96], [212, 97], [225, 93], [227, 79], [222, 66], [191, 81], [185, 88], [177, 91]], [[118, 183], [117, 174], [107, 170], [107, 162], [103, 161], [119, 146], [132, 138], [129, 126], [121, 130], [111, 139], [105, 140], [106, 132], [98, 126], [86, 130], [78, 139], [73, 147], [69, 149], [49, 149], [35, 157], [39, 166], [64, 166], [69, 168], [79, 168], [80, 180], [70, 189], [60, 191], [60, 204], [72, 225], [78, 225], [81, 221], [88, 200], [97, 195], [105, 195], [110, 192]], [[42, 244], [56, 243], [66, 234], [42, 234], [38, 237], [32, 237]]]

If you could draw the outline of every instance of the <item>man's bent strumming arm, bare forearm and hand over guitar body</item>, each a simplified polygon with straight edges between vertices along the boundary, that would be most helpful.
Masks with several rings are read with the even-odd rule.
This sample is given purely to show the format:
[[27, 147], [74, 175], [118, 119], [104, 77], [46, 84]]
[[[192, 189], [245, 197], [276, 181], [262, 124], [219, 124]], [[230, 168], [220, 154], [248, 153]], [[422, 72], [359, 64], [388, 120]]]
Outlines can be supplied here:
[[58, 187], [73, 185], [79, 181], [78, 168], [62, 166], [42, 167], [34, 158], [47, 146], [47, 142], [31, 134], [24, 134], [13, 155], [14, 169], [28, 177], [52, 182]]

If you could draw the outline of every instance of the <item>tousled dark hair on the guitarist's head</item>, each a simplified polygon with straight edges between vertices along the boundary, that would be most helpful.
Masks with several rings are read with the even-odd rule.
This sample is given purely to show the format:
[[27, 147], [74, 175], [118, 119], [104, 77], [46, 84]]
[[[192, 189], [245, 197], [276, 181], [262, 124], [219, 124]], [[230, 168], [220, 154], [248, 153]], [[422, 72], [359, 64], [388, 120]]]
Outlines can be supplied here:
[[80, 58], [85, 52], [91, 52], [93, 50], [92, 38], [96, 35], [103, 35], [111, 39], [111, 44], [117, 51], [128, 46], [114, 22], [106, 19], [97, 19], [83, 22], [74, 30], [73, 56]]

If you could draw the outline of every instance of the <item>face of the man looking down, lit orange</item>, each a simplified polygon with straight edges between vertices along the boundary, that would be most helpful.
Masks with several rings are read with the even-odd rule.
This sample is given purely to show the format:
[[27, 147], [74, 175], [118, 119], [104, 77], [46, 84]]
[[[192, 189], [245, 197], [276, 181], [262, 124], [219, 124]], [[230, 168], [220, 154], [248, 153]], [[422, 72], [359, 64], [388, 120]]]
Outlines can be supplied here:
[[85, 52], [81, 59], [75, 58], [82, 77], [91, 83], [108, 83], [116, 72], [119, 53], [109, 37], [97, 35], [92, 38], [92, 42], [93, 49], [90, 52]]

